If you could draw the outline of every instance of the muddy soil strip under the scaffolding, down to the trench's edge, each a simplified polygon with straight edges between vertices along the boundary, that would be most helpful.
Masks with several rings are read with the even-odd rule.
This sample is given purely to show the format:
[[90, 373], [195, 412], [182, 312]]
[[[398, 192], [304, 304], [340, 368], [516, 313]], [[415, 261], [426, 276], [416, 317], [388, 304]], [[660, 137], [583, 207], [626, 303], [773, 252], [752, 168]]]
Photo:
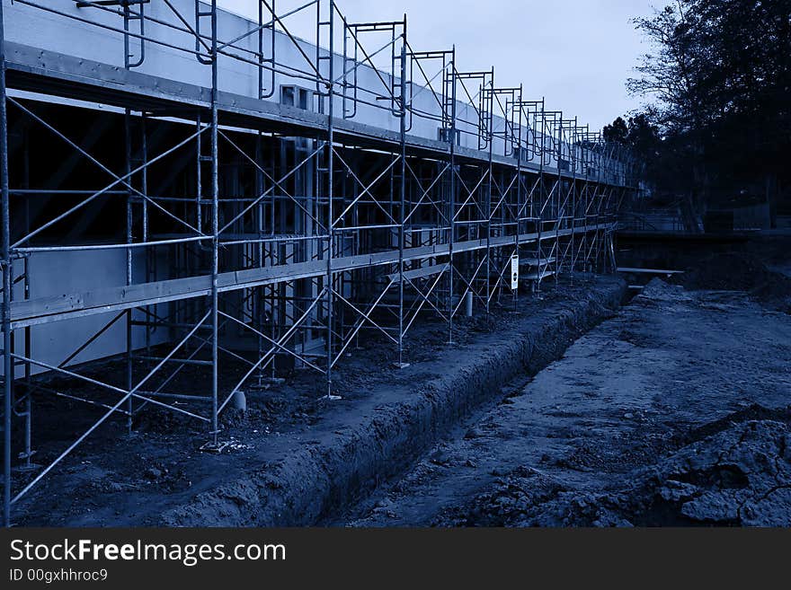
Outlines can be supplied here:
[[[330, 507], [364, 498], [382, 483], [380, 478], [406, 469], [414, 454], [424, 452], [421, 445], [432, 445], [475, 404], [504, 395], [499, 384], [493, 391], [484, 388], [480, 395], [453, 401], [458, 407], [443, 415], [440, 398], [447, 392], [442, 387], [455, 383], [450, 376], [482, 387], [500, 383], [496, 367], [502, 366], [503, 345], [533, 333], [542, 336], [543, 348], [533, 350], [526, 340], [520, 346], [527, 357], [509, 362], [514, 373], [537, 371], [583, 330], [611, 315], [602, 305], [617, 306], [623, 289], [615, 277], [576, 277], [573, 284], [562, 279], [556, 286], [547, 282], [541, 295], [520, 297], [516, 307], [510, 297], [493, 304], [489, 321], [460, 318], [453, 345], [444, 321], [423, 318], [406, 340], [406, 368], [396, 367], [396, 350], [387, 342], [360, 339], [333, 373], [333, 393], [340, 400], [320, 399], [325, 392], [320, 374], [280, 372], [283, 383], [247, 391], [246, 412], [222, 415], [219, 438], [225, 446], [219, 454], [201, 451], [210, 439], [207, 424], [149, 404], [130, 434], [123, 418], [93, 432], [14, 506], [14, 521], [45, 526], [312, 524]], [[227, 391], [246, 366], [225, 358], [220, 378], [221, 390]], [[123, 366], [120, 360], [85, 369], [122, 386]], [[137, 368], [142, 375], [148, 365]], [[45, 464], [104, 411], [51, 392], [103, 403], [113, 398], [68, 379], [40, 382], [49, 392], [35, 395], [33, 460]], [[168, 390], [200, 393], [205, 383], [199, 373], [185, 369]], [[200, 404], [180, 407], [202, 415], [207, 411]], [[361, 448], [368, 439], [373, 451]], [[366, 462], [366, 452], [380, 454], [380, 463]], [[15, 471], [15, 490], [34, 473]]]

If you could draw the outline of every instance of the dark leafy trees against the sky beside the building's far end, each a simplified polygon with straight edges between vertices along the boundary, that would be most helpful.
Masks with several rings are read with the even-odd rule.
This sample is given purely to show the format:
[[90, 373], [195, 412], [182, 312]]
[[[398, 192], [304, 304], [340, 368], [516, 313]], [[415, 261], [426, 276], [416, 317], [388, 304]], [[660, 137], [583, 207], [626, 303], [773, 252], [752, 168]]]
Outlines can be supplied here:
[[605, 138], [644, 161], [657, 196], [787, 208], [791, 0], [677, 0], [635, 25], [653, 50], [627, 88], [646, 106]]

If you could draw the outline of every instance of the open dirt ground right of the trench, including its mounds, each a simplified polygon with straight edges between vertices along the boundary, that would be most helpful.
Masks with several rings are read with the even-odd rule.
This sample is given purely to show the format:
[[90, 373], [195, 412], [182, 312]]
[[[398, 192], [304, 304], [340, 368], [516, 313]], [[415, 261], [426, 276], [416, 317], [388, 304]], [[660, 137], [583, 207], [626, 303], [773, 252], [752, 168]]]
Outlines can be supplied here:
[[756, 264], [654, 279], [334, 524], [791, 526], [789, 293]]

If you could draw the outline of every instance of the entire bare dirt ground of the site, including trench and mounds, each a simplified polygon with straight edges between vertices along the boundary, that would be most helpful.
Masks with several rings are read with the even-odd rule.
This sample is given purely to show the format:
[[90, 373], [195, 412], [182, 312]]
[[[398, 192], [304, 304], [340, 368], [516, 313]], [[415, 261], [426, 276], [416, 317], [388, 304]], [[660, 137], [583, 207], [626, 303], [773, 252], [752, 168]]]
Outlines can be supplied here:
[[[791, 525], [784, 268], [716, 254], [620, 309], [622, 279], [564, 277], [503, 298], [488, 321], [460, 320], [452, 345], [447, 324], [426, 319], [405, 368], [375, 338], [350, 350], [333, 382], [340, 400], [322, 399], [323, 377], [304, 370], [248, 392], [246, 412], [223, 414], [220, 453], [201, 450], [206, 425], [147, 409], [131, 435], [120, 419], [93, 433], [14, 520]], [[222, 379], [242, 371], [228, 363]], [[76, 401], [37, 406], [45, 459], [67, 445], [63, 425], [75, 434], [95, 419]]]

